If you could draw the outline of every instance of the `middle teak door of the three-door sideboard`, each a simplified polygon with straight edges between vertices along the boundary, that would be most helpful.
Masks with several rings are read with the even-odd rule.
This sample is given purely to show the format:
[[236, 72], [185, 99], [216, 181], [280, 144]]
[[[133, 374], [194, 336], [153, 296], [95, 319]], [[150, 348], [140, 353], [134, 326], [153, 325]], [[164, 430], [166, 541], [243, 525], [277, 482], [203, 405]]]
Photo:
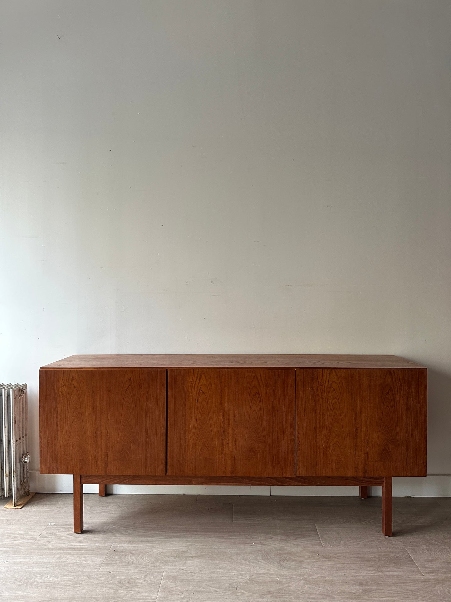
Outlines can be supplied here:
[[168, 474], [295, 476], [295, 370], [168, 371]]

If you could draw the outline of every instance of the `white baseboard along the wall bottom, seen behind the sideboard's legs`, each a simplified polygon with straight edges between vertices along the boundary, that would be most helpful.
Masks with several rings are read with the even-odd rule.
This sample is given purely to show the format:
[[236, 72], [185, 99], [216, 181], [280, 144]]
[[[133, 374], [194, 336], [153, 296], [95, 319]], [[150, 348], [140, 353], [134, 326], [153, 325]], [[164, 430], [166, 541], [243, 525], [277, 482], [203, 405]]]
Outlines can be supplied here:
[[[30, 489], [40, 493], [72, 493], [72, 474], [40, 474], [30, 471]], [[84, 485], [85, 493], [97, 493], [97, 485]], [[108, 485], [111, 493], [177, 495], [358, 495], [358, 487], [348, 486], [255, 486], [255, 485]], [[381, 487], [372, 487], [381, 495]], [[451, 475], [394, 477], [393, 497], [451, 497]]]

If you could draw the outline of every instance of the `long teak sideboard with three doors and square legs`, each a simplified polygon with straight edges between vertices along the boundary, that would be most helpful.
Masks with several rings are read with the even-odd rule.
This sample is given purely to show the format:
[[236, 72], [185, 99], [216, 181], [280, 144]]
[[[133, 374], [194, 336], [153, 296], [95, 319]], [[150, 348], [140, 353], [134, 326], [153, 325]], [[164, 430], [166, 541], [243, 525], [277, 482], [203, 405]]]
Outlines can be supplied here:
[[73, 355], [39, 371], [40, 472], [83, 485], [426, 476], [426, 368], [393, 355]]

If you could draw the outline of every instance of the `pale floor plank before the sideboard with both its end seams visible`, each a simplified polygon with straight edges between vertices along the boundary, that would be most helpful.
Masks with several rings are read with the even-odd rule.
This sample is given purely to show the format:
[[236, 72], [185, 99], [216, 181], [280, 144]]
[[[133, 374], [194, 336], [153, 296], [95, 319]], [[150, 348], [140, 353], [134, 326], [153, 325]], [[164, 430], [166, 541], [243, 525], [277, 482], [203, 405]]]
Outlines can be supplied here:
[[222, 538], [179, 538], [153, 542], [150, 545], [112, 545], [101, 571], [117, 573], [128, 570], [147, 571], [162, 569], [176, 574], [190, 571], [195, 574], [221, 577], [240, 573], [298, 577], [376, 577], [380, 574], [391, 576], [417, 577], [421, 575], [405, 548], [391, 550], [371, 550], [364, 556], [360, 551], [348, 550], [343, 556], [341, 550], [333, 550], [318, 545], [302, 546], [294, 541], [255, 542], [244, 539], [240, 545], [235, 541], [224, 542]]

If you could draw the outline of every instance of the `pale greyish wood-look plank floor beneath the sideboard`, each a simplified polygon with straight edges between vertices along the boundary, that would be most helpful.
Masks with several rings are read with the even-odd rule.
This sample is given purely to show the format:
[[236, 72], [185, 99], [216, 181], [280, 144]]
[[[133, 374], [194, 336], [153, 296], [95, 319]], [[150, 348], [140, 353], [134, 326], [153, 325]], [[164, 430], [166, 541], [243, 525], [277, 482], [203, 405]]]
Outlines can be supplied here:
[[37, 494], [0, 510], [0, 600], [451, 600], [451, 498]]

